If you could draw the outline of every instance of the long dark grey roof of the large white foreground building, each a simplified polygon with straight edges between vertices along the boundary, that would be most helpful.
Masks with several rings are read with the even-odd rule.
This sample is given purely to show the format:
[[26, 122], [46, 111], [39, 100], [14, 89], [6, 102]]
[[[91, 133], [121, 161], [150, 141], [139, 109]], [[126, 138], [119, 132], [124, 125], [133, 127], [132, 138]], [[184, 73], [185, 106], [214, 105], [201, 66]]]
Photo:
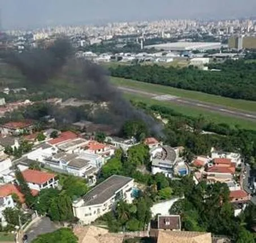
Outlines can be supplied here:
[[115, 193], [132, 181], [130, 177], [112, 175], [103, 181], [101, 184], [95, 186], [84, 197], [84, 206], [97, 205], [106, 202]]

